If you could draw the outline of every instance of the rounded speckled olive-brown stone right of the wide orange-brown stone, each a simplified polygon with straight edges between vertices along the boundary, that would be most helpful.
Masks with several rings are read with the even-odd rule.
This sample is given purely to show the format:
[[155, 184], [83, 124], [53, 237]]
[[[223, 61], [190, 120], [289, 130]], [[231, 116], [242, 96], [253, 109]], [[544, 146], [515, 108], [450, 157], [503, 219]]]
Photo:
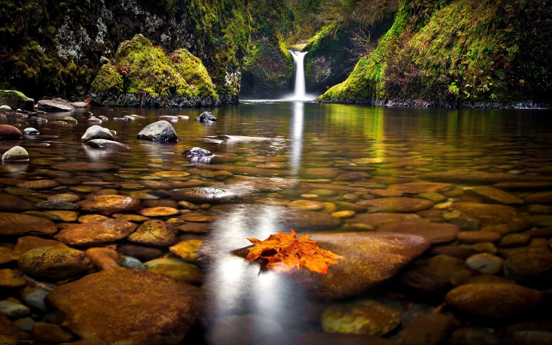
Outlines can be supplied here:
[[148, 220], [128, 237], [129, 242], [145, 246], [170, 246], [176, 242], [178, 230], [162, 220]]

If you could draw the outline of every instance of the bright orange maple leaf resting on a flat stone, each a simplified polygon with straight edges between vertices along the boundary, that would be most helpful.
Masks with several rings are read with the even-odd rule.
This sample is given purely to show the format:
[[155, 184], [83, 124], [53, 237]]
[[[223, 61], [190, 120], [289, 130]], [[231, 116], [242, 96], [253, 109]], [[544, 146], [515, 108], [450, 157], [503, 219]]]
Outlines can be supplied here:
[[288, 235], [280, 231], [277, 235], [270, 235], [264, 241], [256, 238], [247, 238], [255, 246], [249, 248], [247, 259], [250, 261], [258, 258], [268, 261], [267, 268], [279, 272], [286, 272], [293, 268], [307, 268], [313, 272], [328, 273], [330, 264], [338, 264], [335, 259], [345, 257], [323, 250], [318, 247], [318, 242], [309, 240], [309, 235], [297, 238], [293, 229]]

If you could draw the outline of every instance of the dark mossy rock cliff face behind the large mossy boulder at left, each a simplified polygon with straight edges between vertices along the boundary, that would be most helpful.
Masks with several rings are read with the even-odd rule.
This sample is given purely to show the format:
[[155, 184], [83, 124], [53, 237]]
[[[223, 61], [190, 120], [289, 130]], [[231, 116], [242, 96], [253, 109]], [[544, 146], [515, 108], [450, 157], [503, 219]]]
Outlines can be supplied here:
[[187, 49], [220, 101], [237, 102], [250, 30], [243, 0], [0, 0], [0, 15], [0, 89], [87, 98], [100, 61], [140, 33], [166, 51]]

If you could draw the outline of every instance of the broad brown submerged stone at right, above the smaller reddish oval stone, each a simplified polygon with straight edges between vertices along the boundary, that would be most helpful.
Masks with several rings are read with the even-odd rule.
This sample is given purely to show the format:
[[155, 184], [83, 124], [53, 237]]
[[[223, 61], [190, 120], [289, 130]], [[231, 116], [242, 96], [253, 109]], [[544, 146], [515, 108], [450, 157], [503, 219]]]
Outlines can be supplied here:
[[506, 205], [480, 204], [459, 202], [454, 208], [481, 222], [481, 229], [500, 232], [502, 234], [527, 229], [528, 220], [516, 209]]

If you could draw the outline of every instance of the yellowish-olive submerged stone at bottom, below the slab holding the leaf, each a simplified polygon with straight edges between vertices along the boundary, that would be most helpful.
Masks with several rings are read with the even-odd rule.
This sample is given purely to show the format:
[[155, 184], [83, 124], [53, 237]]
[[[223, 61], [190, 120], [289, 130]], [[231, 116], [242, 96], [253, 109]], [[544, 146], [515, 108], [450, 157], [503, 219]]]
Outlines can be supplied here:
[[328, 333], [381, 336], [400, 325], [398, 311], [372, 300], [332, 305], [322, 314], [322, 329]]

